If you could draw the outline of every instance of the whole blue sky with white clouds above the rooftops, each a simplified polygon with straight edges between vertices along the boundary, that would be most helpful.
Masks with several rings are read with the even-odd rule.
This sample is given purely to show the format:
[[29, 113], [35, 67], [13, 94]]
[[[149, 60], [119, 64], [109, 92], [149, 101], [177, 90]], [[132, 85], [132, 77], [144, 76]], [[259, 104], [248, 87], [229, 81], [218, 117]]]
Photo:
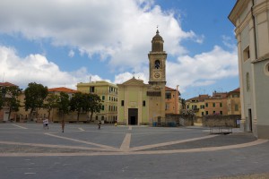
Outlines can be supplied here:
[[157, 26], [181, 98], [239, 88], [236, 0], [1, 0], [0, 80], [27, 88], [149, 81]]

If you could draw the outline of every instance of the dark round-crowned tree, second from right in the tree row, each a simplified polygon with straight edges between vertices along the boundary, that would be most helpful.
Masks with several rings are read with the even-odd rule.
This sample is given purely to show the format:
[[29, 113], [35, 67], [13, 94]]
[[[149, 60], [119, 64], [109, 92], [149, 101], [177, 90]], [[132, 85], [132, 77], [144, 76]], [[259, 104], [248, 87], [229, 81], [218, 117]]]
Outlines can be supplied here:
[[80, 114], [85, 112], [87, 108], [86, 99], [87, 95], [82, 94], [81, 92], [74, 93], [73, 97], [70, 99], [70, 110], [77, 112], [77, 121], [79, 121]]

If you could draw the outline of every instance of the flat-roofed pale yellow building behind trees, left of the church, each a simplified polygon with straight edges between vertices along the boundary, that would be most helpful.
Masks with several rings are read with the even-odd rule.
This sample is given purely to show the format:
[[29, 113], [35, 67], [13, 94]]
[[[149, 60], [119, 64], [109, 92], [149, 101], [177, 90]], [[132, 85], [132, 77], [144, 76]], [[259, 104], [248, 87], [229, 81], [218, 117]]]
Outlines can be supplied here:
[[115, 123], [117, 121], [117, 85], [108, 81], [91, 81], [78, 83], [77, 90], [82, 93], [94, 93], [100, 96], [102, 108], [100, 113], [93, 114], [95, 121]]

